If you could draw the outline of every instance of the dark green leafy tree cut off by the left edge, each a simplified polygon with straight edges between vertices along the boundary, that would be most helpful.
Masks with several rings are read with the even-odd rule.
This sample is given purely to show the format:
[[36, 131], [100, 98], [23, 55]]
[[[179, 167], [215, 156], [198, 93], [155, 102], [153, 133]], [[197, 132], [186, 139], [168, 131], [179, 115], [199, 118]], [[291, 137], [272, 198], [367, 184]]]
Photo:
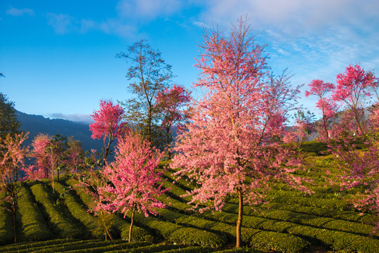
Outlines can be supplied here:
[[5, 94], [0, 93], [0, 138], [6, 138], [7, 134], [17, 134], [19, 131], [21, 124], [18, 122], [14, 106]]

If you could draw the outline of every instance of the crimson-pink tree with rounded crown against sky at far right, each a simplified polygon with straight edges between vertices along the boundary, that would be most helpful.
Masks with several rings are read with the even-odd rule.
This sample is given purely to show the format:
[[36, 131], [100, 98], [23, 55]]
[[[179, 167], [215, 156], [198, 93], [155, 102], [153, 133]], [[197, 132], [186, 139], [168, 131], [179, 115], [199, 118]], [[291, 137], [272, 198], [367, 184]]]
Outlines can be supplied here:
[[366, 129], [362, 126], [361, 110], [367, 98], [370, 98], [370, 87], [375, 86], [376, 78], [373, 72], [366, 72], [359, 65], [349, 65], [345, 72], [337, 75], [337, 86], [333, 91], [332, 98], [336, 103], [346, 105], [352, 113], [354, 119], [355, 134], [366, 134]]

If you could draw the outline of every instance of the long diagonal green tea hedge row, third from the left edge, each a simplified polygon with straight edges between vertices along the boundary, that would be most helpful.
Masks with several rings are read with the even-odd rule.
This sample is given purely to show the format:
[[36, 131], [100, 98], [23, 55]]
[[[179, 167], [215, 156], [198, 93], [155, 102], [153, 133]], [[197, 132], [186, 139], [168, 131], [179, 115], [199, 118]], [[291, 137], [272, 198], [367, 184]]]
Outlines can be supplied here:
[[28, 184], [36, 201], [44, 207], [53, 230], [59, 238], [82, 238], [83, 232], [72, 225], [72, 221], [62, 213], [51, 191], [41, 182], [35, 181]]

